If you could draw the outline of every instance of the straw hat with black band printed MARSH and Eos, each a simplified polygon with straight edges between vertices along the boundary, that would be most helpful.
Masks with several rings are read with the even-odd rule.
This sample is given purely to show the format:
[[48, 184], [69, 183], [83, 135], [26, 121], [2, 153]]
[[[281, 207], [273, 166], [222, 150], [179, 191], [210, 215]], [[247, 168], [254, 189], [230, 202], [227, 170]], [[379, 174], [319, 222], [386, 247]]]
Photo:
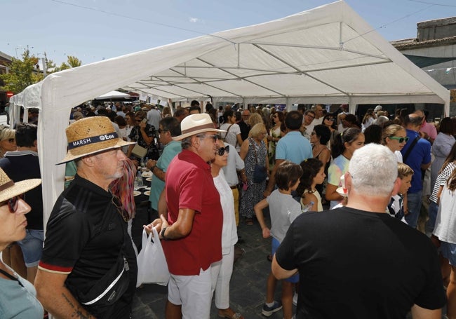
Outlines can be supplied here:
[[73, 161], [86, 155], [108, 149], [116, 149], [136, 142], [125, 142], [117, 135], [107, 116], [82, 118], [69, 125], [66, 130], [68, 140], [67, 156], [58, 164]]

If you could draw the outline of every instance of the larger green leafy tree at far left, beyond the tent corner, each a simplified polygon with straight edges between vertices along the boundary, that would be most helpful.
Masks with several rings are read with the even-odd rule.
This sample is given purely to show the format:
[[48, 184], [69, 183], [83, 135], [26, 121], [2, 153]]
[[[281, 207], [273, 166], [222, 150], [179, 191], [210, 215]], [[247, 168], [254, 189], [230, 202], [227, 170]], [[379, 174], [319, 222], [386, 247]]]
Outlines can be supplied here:
[[27, 86], [41, 81], [44, 76], [37, 70], [37, 64], [38, 57], [30, 55], [29, 48], [22, 53], [22, 60], [13, 57], [11, 63], [8, 65], [9, 72], [0, 74], [0, 78], [5, 83], [1, 87], [2, 90], [12, 91], [17, 94], [22, 92]]

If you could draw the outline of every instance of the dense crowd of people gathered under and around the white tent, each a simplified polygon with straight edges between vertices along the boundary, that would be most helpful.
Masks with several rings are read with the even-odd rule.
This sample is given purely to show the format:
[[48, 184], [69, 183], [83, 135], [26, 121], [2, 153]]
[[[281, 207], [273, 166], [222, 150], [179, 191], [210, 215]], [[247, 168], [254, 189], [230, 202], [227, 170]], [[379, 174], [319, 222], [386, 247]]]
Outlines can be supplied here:
[[[76, 107], [59, 163], [67, 183], [47, 226], [36, 125], [1, 127], [0, 213], [12, 214], [2, 222], [0, 280], [15, 290], [17, 281], [18, 298], [28, 298], [8, 311], [132, 318], [142, 167], [153, 174], [145, 230], [159, 232], [170, 272], [166, 318], [209, 318], [213, 295], [217, 315], [243, 318], [229, 302], [239, 223], [272, 237], [266, 317], [440, 318], [445, 285], [456, 318], [456, 118], [395, 115], [379, 105], [358, 118], [347, 104]], [[423, 210], [427, 236], [417, 231]]]

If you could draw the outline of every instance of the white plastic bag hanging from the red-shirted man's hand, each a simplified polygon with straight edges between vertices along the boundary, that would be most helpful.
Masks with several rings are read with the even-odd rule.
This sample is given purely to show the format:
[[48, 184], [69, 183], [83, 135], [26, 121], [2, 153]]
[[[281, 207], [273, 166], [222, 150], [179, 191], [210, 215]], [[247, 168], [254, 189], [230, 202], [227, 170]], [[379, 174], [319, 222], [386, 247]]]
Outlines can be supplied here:
[[168, 285], [170, 274], [166, 263], [165, 253], [161, 247], [159, 233], [155, 227], [147, 236], [145, 229], [142, 230], [142, 247], [138, 254], [138, 280], [136, 287], [143, 283], [156, 283]]

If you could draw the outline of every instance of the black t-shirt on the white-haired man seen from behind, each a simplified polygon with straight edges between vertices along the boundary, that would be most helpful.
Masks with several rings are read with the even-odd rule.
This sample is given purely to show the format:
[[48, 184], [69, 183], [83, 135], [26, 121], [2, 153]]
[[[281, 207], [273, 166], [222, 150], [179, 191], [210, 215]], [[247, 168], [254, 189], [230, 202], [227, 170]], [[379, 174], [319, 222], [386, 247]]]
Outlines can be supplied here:
[[346, 207], [302, 214], [276, 259], [299, 270], [297, 318], [403, 319], [413, 304], [445, 304], [434, 245], [387, 214]]

